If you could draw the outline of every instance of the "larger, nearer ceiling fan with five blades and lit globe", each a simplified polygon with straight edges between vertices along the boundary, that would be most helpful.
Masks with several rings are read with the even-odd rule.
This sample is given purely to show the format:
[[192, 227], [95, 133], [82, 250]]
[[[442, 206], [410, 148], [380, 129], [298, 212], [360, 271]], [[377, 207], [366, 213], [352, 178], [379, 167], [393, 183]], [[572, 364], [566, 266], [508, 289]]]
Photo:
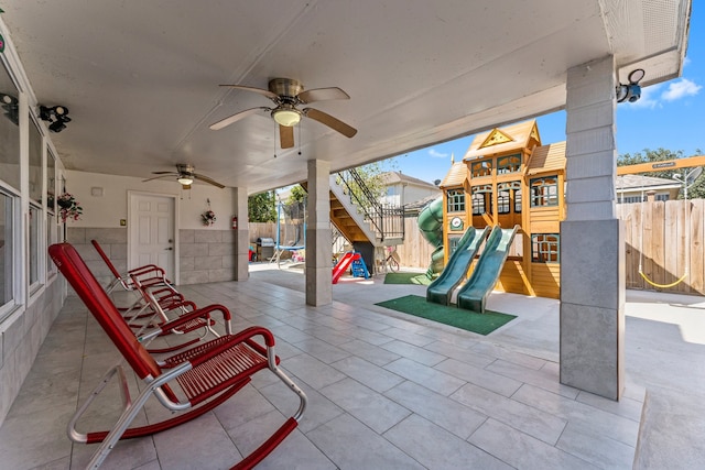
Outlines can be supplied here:
[[272, 119], [279, 124], [279, 135], [282, 149], [294, 146], [294, 125], [301, 121], [302, 117], [311, 118], [330, 129], [341, 133], [346, 138], [351, 138], [357, 133], [357, 129], [346, 124], [333, 116], [314, 108], [296, 108], [297, 105], [307, 105], [314, 101], [325, 101], [329, 99], [350, 99], [348, 94], [338, 87], [314, 88], [304, 91], [304, 86], [291, 78], [272, 78], [269, 81], [269, 89], [247, 87], [243, 85], [220, 85], [221, 87], [236, 88], [246, 91], [254, 91], [274, 102], [274, 108], [259, 107], [250, 108], [221, 119], [210, 124], [210, 129], [217, 131], [234, 122], [239, 121], [259, 111], [268, 111]]

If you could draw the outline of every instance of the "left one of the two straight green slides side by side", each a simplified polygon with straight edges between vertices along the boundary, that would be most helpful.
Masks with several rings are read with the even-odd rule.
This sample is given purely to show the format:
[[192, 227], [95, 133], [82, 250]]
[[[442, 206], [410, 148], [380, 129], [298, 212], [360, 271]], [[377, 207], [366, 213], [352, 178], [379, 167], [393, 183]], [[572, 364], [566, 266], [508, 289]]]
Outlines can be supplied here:
[[441, 275], [429, 285], [426, 302], [443, 305], [451, 304], [453, 291], [465, 281], [467, 271], [470, 269], [480, 244], [487, 238], [488, 231], [489, 227], [485, 227], [482, 230], [475, 230], [475, 227], [470, 227], [465, 231], [463, 238], [458, 241], [457, 248], [451, 255], [448, 264], [446, 264]]

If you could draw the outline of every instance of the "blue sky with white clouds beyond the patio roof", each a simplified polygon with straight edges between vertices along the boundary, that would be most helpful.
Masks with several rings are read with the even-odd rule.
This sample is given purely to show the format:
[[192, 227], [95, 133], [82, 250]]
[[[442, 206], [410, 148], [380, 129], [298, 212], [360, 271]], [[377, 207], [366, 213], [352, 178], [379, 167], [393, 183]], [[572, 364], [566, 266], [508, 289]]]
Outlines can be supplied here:
[[[705, 9], [693, 2], [690, 37], [680, 78], [641, 89], [634, 103], [617, 105], [617, 153], [633, 154], [644, 149], [682, 151], [683, 156], [705, 152]], [[648, 70], [647, 70], [648, 74]], [[565, 111], [536, 118], [541, 142], [565, 140]], [[384, 170], [433, 183], [443, 179], [451, 155], [459, 161], [474, 135], [399, 155]]]

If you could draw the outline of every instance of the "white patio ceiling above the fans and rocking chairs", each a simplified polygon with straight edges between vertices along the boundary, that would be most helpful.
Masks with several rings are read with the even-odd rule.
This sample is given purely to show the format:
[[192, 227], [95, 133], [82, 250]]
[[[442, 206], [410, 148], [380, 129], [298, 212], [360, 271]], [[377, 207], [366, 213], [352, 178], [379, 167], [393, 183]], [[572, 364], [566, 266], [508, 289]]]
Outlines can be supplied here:
[[[250, 193], [398, 155], [565, 103], [566, 69], [614, 54], [622, 81], [679, 76], [691, 0], [9, 0], [37, 102], [73, 119], [52, 134], [67, 168], [149, 177], [193, 163]], [[621, 69], [623, 67], [623, 69]], [[218, 87], [337, 86], [311, 105], [358, 129], [304, 119], [278, 149], [265, 113], [208, 125], [267, 98]], [[301, 154], [299, 154], [301, 152]], [[276, 155], [276, 157], [274, 157]], [[174, 183], [176, 184], [176, 183]]]

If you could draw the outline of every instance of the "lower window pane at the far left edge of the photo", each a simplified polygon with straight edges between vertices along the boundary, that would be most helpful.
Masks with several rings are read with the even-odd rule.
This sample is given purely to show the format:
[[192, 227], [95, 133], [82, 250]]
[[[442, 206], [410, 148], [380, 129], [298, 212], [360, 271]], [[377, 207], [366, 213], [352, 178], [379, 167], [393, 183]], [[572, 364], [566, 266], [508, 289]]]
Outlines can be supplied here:
[[14, 201], [0, 189], [0, 319], [14, 306]]

